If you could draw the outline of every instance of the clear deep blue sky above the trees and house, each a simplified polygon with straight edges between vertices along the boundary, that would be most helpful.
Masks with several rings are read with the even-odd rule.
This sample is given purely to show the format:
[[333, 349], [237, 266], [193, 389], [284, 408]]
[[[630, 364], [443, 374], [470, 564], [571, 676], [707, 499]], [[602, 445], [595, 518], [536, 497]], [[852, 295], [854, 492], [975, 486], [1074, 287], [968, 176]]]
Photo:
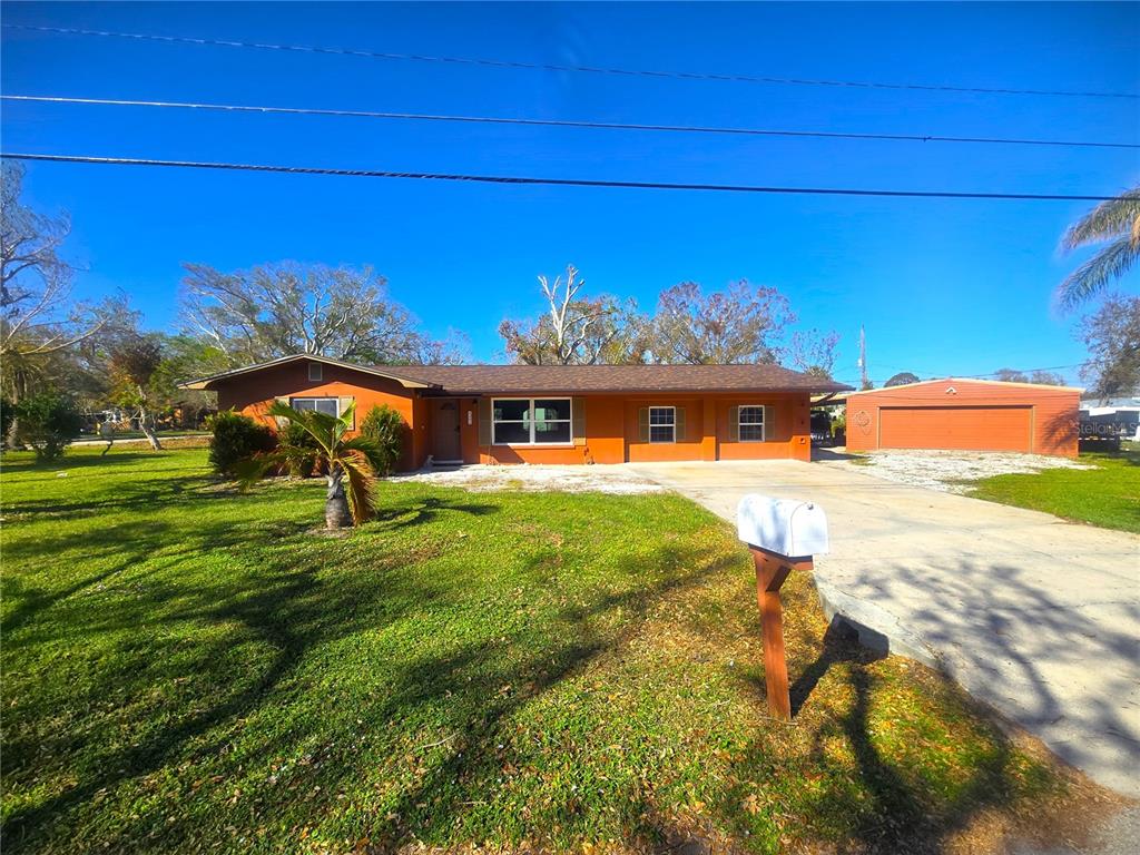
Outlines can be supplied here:
[[[3, 3], [6, 23], [327, 44], [529, 63], [1029, 89], [1140, 91], [1140, 6]], [[5, 93], [1140, 140], [1132, 99], [654, 80], [3, 31]], [[606, 178], [1115, 194], [1137, 149], [719, 138], [586, 129], [3, 104], [3, 147]], [[773, 285], [800, 328], [840, 333], [837, 376], [1080, 363], [1051, 308], [1086, 203], [497, 187], [30, 164], [27, 197], [71, 212], [84, 295], [122, 288], [176, 323], [181, 262], [372, 264], [424, 327], [500, 357], [505, 316], [570, 261], [594, 292], [692, 279]], [[1138, 274], [1122, 284], [1134, 293]], [[1062, 372], [1075, 378], [1075, 370]]]

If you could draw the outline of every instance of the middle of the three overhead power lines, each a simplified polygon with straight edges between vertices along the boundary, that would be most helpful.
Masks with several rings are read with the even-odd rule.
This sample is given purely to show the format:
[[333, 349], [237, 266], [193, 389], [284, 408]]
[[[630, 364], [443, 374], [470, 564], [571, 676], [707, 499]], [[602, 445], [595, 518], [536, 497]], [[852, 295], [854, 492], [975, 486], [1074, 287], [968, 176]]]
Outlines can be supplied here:
[[331, 109], [318, 107], [269, 107], [246, 104], [197, 104], [193, 101], [127, 100], [122, 98], [68, 98], [47, 95], [3, 95], [3, 100], [41, 104], [84, 104], [111, 107], [170, 107], [206, 109], [227, 113], [282, 113], [287, 115], [348, 116], [352, 119], [402, 119], [427, 122], [473, 122], [480, 124], [522, 124], [552, 128], [591, 128], [622, 131], [671, 131], [679, 133], [722, 133], [754, 137], [820, 137], [824, 139], [874, 139], [907, 142], [982, 142], [1021, 146], [1075, 146], [1084, 148], [1140, 148], [1140, 142], [1091, 142], [1084, 140], [1011, 139], [1002, 137], [943, 137], [926, 133], [857, 133], [842, 131], [773, 130], [765, 128], [715, 128], [683, 124], [637, 124], [594, 122], [567, 119], [514, 119], [510, 116], [467, 116], [434, 113], [390, 113], [367, 109]]

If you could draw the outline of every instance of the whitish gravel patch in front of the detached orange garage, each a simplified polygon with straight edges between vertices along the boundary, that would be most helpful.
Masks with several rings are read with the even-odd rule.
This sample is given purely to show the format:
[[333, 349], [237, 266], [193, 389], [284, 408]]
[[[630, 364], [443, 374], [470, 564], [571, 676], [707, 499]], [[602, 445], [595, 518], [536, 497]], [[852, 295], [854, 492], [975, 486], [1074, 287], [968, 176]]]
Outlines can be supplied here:
[[845, 465], [885, 481], [926, 487], [944, 492], [966, 494], [970, 482], [991, 475], [1040, 472], [1045, 469], [1093, 469], [1068, 457], [1005, 451], [871, 451], [842, 459], [842, 449], [831, 449]]

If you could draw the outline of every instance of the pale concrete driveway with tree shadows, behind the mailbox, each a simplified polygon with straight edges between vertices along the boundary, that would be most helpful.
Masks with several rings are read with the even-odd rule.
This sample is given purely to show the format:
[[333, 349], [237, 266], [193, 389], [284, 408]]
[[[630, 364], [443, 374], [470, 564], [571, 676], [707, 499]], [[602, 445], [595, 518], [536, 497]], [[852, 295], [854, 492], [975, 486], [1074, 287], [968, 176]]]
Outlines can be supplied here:
[[819, 503], [829, 616], [943, 668], [1093, 780], [1140, 797], [1140, 537], [840, 462], [630, 469], [726, 520], [746, 492]]

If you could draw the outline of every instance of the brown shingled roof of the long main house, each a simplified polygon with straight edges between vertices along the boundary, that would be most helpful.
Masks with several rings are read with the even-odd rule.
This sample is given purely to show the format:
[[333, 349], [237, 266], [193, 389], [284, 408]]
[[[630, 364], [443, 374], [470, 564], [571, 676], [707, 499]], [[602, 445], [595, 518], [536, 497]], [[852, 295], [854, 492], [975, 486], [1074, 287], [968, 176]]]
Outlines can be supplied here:
[[230, 377], [298, 359], [386, 377], [427, 394], [603, 392], [842, 392], [852, 386], [777, 365], [401, 365], [367, 367], [299, 355], [185, 383], [215, 389]]

